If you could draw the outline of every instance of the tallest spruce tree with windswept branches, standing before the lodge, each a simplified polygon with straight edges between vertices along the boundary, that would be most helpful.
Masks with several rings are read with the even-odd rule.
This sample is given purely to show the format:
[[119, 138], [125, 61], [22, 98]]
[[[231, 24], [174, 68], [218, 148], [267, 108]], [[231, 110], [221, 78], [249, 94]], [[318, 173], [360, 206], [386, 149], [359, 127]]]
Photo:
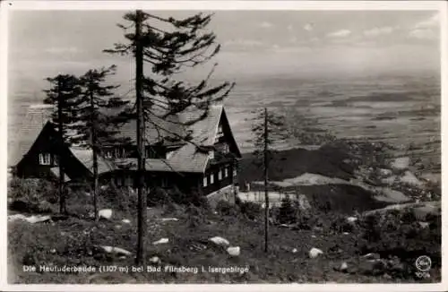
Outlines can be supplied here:
[[[193, 125], [208, 115], [212, 103], [223, 100], [234, 84], [222, 82], [211, 86], [211, 72], [197, 84], [177, 79], [177, 73], [185, 69], [206, 64], [220, 51], [216, 36], [207, 30], [211, 14], [195, 14], [183, 20], [173, 17], [160, 17], [140, 10], [126, 13], [126, 25], [118, 24], [125, 30], [125, 43], [116, 43], [105, 52], [125, 56], [133, 56], [135, 60], [135, 111], [129, 113], [130, 118], [137, 119], [137, 192], [139, 196], [138, 212], [138, 245], [137, 258], [139, 264], [145, 261], [144, 241], [146, 237], [146, 194], [143, 173], [145, 167], [144, 146], [148, 142], [145, 137], [145, 125], [171, 132], [154, 121], [154, 117], [170, 121], [179, 126]], [[127, 30], [134, 28], [134, 32]], [[143, 65], [151, 68], [151, 74], [144, 74]], [[216, 64], [215, 64], [216, 65]], [[187, 121], [169, 119], [192, 108], [197, 115]], [[179, 140], [189, 141], [189, 133], [173, 133]], [[151, 137], [154, 138], [154, 137]]]

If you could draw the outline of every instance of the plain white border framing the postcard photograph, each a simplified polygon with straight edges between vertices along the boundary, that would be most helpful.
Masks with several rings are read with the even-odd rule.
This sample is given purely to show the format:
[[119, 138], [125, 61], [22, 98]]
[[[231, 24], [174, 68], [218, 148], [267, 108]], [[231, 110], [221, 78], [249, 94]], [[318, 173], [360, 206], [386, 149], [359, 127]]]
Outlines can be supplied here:
[[[10, 5], [12, 3], [12, 5]], [[6, 100], [7, 100], [7, 12], [10, 10], [134, 10], [134, 9], [148, 9], [148, 10], [438, 10], [441, 14], [441, 66], [442, 66], [442, 149], [445, 149], [446, 142], [444, 141], [444, 134], [446, 125], [448, 125], [446, 108], [444, 106], [446, 99], [446, 82], [448, 81], [447, 73], [447, 54], [448, 43], [446, 28], [447, 22], [447, 3], [445, 1], [3, 1], [0, 14], [0, 108], [3, 111], [0, 115], [0, 128], [2, 137], [7, 137], [7, 115], [6, 115]], [[0, 161], [6, 165], [7, 151], [4, 143], [4, 150], [1, 151]], [[448, 155], [442, 150], [442, 173], [445, 173], [448, 164]], [[6, 182], [6, 168], [0, 168], [2, 182]], [[443, 176], [443, 182], [444, 182]], [[3, 196], [0, 199], [0, 206], [2, 210], [6, 210], [6, 195], [5, 184]], [[442, 185], [442, 193], [445, 192], [446, 187]], [[443, 228], [448, 227], [447, 217], [444, 215], [446, 210], [446, 200], [443, 200]], [[2, 290], [7, 291], [31, 291], [31, 290], [47, 290], [47, 291], [121, 291], [121, 290], [135, 290], [135, 291], [170, 291], [178, 289], [179, 291], [227, 291], [226, 285], [8, 285], [6, 282], [6, 212], [3, 213], [4, 218], [0, 220], [0, 228], [4, 233], [1, 239], [0, 259], [2, 265], [1, 285]], [[442, 291], [448, 290], [446, 285], [448, 262], [446, 261], [446, 253], [444, 250], [448, 248], [448, 243], [443, 236], [442, 253], [442, 280], [440, 284], [254, 284], [254, 285], [232, 285], [232, 288], [258, 291], [261, 289], [284, 290], [284, 291]]]

